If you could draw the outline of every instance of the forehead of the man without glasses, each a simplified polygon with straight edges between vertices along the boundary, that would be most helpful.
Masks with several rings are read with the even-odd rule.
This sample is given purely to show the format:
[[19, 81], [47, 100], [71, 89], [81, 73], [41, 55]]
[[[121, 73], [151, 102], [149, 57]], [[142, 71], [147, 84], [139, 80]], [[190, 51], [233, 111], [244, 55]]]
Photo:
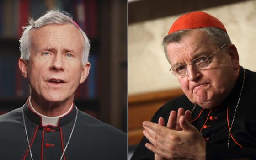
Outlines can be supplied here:
[[71, 23], [50, 24], [34, 29], [30, 33], [32, 44], [37, 47], [66, 46], [82, 47], [84, 39], [81, 32]]

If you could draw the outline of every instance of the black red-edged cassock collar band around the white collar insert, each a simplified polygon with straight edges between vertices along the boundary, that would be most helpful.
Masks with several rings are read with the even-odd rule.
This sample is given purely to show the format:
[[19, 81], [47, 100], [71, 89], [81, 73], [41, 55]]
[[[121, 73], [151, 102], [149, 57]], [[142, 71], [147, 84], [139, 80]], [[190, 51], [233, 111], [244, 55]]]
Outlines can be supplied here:
[[[67, 113], [63, 117], [59, 117], [58, 125], [57, 126], [50, 125], [50, 126], [53, 128], [59, 128], [69, 123], [70, 121], [72, 121], [75, 118], [75, 114], [76, 114], [76, 110], [74, 108], [75, 108], [75, 104], [73, 103], [72, 109], [69, 111], [69, 113]], [[29, 107], [29, 100], [27, 100], [27, 102], [24, 105], [24, 112], [26, 117], [28, 117], [28, 119], [30, 119], [33, 123], [36, 123], [37, 125], [43, 127], [42, 117], [38, 115], [36, 112], [34, 112], [31, 109], [31, 107]]]

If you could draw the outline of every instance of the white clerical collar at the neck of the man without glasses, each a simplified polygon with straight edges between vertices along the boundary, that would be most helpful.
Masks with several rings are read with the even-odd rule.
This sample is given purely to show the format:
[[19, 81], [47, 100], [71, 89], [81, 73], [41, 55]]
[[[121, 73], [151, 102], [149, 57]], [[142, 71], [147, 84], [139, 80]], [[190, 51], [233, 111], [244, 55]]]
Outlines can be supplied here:
[[29, 102], [29, 106], [31, 107], [32, 111], [36, 112], [39, 116], [42, 117], [42, 126], [46, 126], [46, 125], [58, 126], [59, 118], [67, 115], [69, 113], [69, 111], [72, 109], [72, 106], [73, 106], [73, 103], [72, 103], [69, 110], [67, 112], [65, 112], [64, 114], [60, 115], [60, 116], [49, 117], [49, 116], [45, 116], [45, 115], [43, 115], [43, 114], [41, 114], [41, 113], [39, 113], [35, 110], [35, 108], [32, 106], [30, 97], [29, 97], [28, 102]]

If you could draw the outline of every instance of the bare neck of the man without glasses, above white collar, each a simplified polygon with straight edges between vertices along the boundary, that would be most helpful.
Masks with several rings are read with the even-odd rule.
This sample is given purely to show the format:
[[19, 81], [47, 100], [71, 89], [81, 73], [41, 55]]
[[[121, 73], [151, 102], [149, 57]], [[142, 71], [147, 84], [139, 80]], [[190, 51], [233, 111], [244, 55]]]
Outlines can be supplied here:
[[31, 95], [30, 100], [33, 108], [40, 114], [48, 117], [56, 117], [69, 111], [70, 106], [73, 104], [74, 98], [61, 102], [52, 102], [35, 98], [35, 96]]

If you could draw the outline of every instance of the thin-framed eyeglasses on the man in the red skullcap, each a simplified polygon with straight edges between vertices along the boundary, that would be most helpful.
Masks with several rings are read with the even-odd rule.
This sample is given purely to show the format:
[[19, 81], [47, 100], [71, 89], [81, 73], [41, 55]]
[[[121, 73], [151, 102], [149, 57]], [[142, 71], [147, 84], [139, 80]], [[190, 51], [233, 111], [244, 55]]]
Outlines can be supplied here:
[[208, 67], [208, 65], [211, 63], [210, 58], [217, 52], [219, 52], [220, 49], [224, 48], [224, 46], [227, 44], [224, 44], [219, 49], [217, 49], [215, 52], [213, 52], [211, 55], [198, 57], [196, 59], [193, 59], [190, 64], [177, 64], [171, 67], [170, 71], [175, 76], [181, 76], [182, 78], [187, 75], [187, 66], [192, 65], [195, 69], [202, 70]]

